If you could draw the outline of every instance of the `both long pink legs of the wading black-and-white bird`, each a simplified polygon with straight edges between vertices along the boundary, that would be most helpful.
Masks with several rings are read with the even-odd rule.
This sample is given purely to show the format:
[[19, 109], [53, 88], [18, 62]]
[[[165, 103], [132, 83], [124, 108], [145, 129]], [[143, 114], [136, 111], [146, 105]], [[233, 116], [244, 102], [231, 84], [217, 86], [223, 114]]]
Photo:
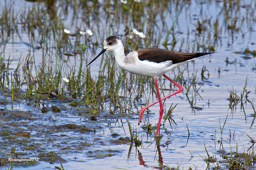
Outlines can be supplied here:
[[[144, 111], [145, 111], [148, 107], [151, 107], [151, 106], [155, 105], [156, 103], [158, 103], [159, 101], [165, 100], [165, 99], [167, 99], [167, 98], [169, 98], [169, 97], [171, 97], [171, 96], [173, 96], [173, 95], [175, 95], [175, 94], [178, 94], [178, 93], [182, 92], [183, 87], [181, 87], [178, 83], [176, 83], [175, 81], [173, 81], [171, 78], [169, 78], [169, 77], [166, 76], [165, 74], [164, 74], [163, 76], [164, 76], [165, 78], [167, 78], [170, 82], [172, 82], [174, 85], [176, 85], [176, 86], [179, 88], [179, 90], [177, 90], [176, 92], [173, 92], [172, 94], [169, 94], [169, 95], [165, 96], [165, 97], [162, 98], [162, 99], [161, 99], [160, 94], [159, 94], [159, 96], [158, 96], [158, 99], [159, 99], [159, 100], [158, 100], [158, 101], [156, 101], [156, 102], [154, 102], [154, 103], [152, 103], [152, 104], [150, 104], [150, 105], [148, 105], [148, 106], [146, 106], [146, 107], [141, 108], [141, 109], [140, 109], [140, 115], [139, 115], [139, 123], [138, 123], [138, 125], [139, 125], [140, 122], [142, 121]], [[155, 83], [156, 83], [156, 89], [158, 90], [158, 85], [157, 85], [156, 79], [155, 79]], [[158, 93], [159, 93], [159, 90], [158, 90]], [[158, 93], [157, 93], [157, 95], [158, 95]], [[161, 99], [161, 100], [160, 100], [160, 99]], [[162, 102], [161, 102], [161, 104], [162, 104]], [[162, 106], [163, 106], [163, 105], [162, 105]], [[160, 106], [160, 108], [161, 108], [161, 106]], [[160, 110], [161, 110], [161, 109], [160, 109]], [[162, 119], [162, 116], [161, 116], [161, 119]], [[160, 123], [161, 123], [161, 119], [160, 119], [160, 117], [159, 117]], [[159, 121], [158, 121], [157, 127], [160, 126], [160, 123], [159, 123]], [[159, 129], [156, 131], [157, 134], [158, 134], [158, 131], [159, 131]]]

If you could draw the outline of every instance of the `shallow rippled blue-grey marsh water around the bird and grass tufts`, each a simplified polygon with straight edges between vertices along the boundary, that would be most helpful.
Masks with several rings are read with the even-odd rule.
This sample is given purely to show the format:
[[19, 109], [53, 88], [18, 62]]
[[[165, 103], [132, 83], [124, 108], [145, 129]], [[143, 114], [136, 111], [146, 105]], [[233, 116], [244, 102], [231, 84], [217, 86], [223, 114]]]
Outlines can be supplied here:
[[[5, 1], [0, 2], [1, 4], [6, 3]], [[16, 10], [15, 12], [26, 10], [25, 7], [28, 6], [31, 7], [37, 5], [37, 3], [26, 1], [22, 1], [21, 4], [17, 3], [17, 1], [12, 2], [13, 7]], [[60, 2], [55, 5], [60, 5], [59, 3]], [[111, 18], [109, 21], [108, 18], [106, 18], [107, 12], [104, 10], [104, 3], [105, 2], [100, 2], [99, 11], [102, 13], [102, 15], [100, 15], [100, 21], [96, 20], [97, 17], [94, 18], [92, 14], [89, 14], [89, 18], [87, 19], [90, 21], [90, 24], [86, 24], [81, 19], [83, 18], [84, 11], [81, 8], [78, 8], [76, 9], [76, 19], [72, 18], [73, 13], [71, 12], [65, 15], [65, 17], [63, 16], [65, 26], [71, 30], [71, 32], [75, 32], [76, 26], [80, 26], [82, 23], [84, 29], [90, 27], [90, 29], [93, 30], [94, 34], [92, 36], [92, 41], [96, 40], [96, 37], [94, 37], [96, 34], [98, 42], [101, 43], [108, 35], [108, 32], [104, 29], [109, 28], [108, 22], [114, 20]], [[170, 7], [165, 9], [163, 16], [160, 14], [156, 16], [155, 26], [159, 27], [159, 30], [155, 30], [157, 35], [162, 31], [161, 29], [166, 31], [164, 33], [164, 35], [166, 35], [168, 30], [172, 27], [173, 20], [177, 17], [174, 30], [178, 41], [173, 50], [178, 51], [180, 49], [182, 38], [184, 38], [185, 42], [182, 45], [182, 51], [196, 51], [196, 45], [194, 45], [194, 43], [199, 41], [200, 52], [203, 50], [203, 43], [205, 43], [206, 46], [208, 43], [214, 44], [217, 52], [212, 55], [200, 57], [196, 59], [195, 62], [190, 62], [180, 67], [180, 69], [185, 69], [187, 67], [183, 75], [186, 79], [191, 78], [197, 71], [196, 88], [198, 89], [201, 85], [202, 87], [196, 94], [194, 99], [194, 103], [196, 104], [194, 107], [202, 107], [202, 110], [191, 108], [189, 101], [192, 100], [195, 93], [192, 87], [188, 92], [188, 97], [185, 95], [187, 90], [184, 89], [182, 93], [165, 100], [165, 112], [168, 111], [172, 102], [174, 104], [178, 103], [178, 105], [172, 113], [174, 122], [169, 122], [167, 120], [164, 127], [161, 126], [160, 133], [163, 135], [160, 140], [161, 156], [159, 156], [160, 152], [154, 141], [154, 134], [150, 133], [147, 136], [146, 131], [141, 129], [141, 126], [144, 123], [147, 124], [148, 120], [152, 125], [155, 125], [159, 114], [158, 104], [150, 107], [149, 114], [146, 114], [145, 112], [143, 121], [138, 126], [138, 111], [141, 106], [138, 102], [135, 102], [136, 106], [133, 107], [133, 112], [136, 114], [124, 114], [119, 112], [110, 114], [107, 107], [108, 102], [106, 102], [104, 103], [104, 109], [101, 109], [100, 113], [96, 114], [97, 121], [92, 121], [90, 120], [90, 108], [83, 107], [82, 109], [79, 109], [78, 107], [71, 107], [68, 105], [69, 101], [67, 99], [59, 98], [49, 100], [47, 96], [42, 97], [40, 100], [35, 98], [31, 98], [30, 100], [21, 98], [14, 101], [13, 104], [9, 102], [0, 105], [0, 109], [6, 108], [6, 110], [29, 111], [28, 115], [23, 114], [22, 116], [17, 116], [10, 113], [3, 113], [1, 110], [1, 131], [16, 132], [23, 130], [23, 132], [29, 132], [31, 129], [33, 130], [30, 136], [2, 136], [1, 141], [3, 142], [3, 145], [0, 148], [1, 156], [8, 157], [8, 154], [10, 154], [12, 147], [16, 143], [16, 152], [24, 154], [20, 154], [20, 158], [37, 158], [40, 152], [54, 151], [61, 158], [67, 160], [61, 161], [65, 169], [102, 169], [102, 167], [107, 169], [114, 167], [124, 169], [160, 169], [157, 160], [161, 159], [161, 157], [164, 164], [168, 164], [170, 167], [176, 168], [179, 164], [180, 169], [188, 169], [189, 167], [192, 169], [195, 169], [196, 167], [197, 169], [205, 169], [207, 168], [207, 164], [202, 158], [207, 157], [205, 146], [210, 156], [214, 156], [214, 153], [218, 160], [222, 160], [222, 154], [219, 154], [217, 152], [218, 150], [224, 149], [226, 152], [230, 152], [231, 147], [231, 150], [235, 152], [236, 144], [238, 145], [238, 152], [247, 151], [252, 145], [251, 139], [247, 135], [251, 138], [255, 138], [256, 136], [256, 125], [254, 124], [255, 115], [252, 115], [252, 106], [247, 102], [247, 104], [244, 104], [244, 110], [241, 110], [239, 103], [236, 106], [236, 109], [231, 110], [229, 109], [229, 100], [227, 100], [229, 98], [228, 90], [231, 88], [234, 88], [239, 95], [243, 92], [246, 77], [248, 83], [246, 89], [247, 92], [250, 91], [248, 100], [252, 101], [256, 96], [256, 72], [255, 70], [252, 70], [253, 65], [256, 63], [255, 56], [252, 54], [243, 54], [246, 48], [250, 51], [256, 50], [256, 23], [255, 19], [252, 19], [255, 18], [255, 12], [253, 12], [255, 11], [255, 2], [239, 1], [239, 3], [240, 11], [224, 10], [225, 8], [231, 7], [225, 7], [224, 3], [219, 1], [205, 1], [198, 4], [195, 1], [191, 1], [191, 3], [178, 3], [177, 6], [175, 6], [175, 3], [172, 4], [170, 2], [167, 4]], [[90, 6], [92, 4], [91, 2], [88, 2], [87, 5]], [[120, 3], [120, 5], [123, 4]], [[238, 4], [232, 5], [233, 8], [238, 6]], [[20, 6], [24, 8], [20, 8]], [[70, 4], [67, 5], [67, 8], [71, 11], [70, 9], [75, 9], [74, 6], [75, 5]], [[110, 9], [116, 10], [116, 8], [117, 7], [114, 6]], [[145, 11], [147, 10], [148, 9], [146, 8]], [[226, 13], [226, 11], [228, 11], [228, 13]], [[120, 11], [118, 12], [121, 13]], [[125, 15], [128, 14], [125, 13]], [[232, 19], [227, 19], [229, 17], [237, 17], [236, 27], [239, 28], [238, 31], [228, 29], [228, 25], [234, 22]], [[245, 18], [244, 21], [242, 21], [243, 17]], [[113, 26], [113, 32], [111, 34], [114, 34], [118, 28], [120, 28], [120, 30], [117, 35], [123, 35], [125, 33], [124, 29], [126, 24], [124, 23], [124, 20], [122, 20], [125, 19], [125, 16], [123, 16], [123, 18], [120, 17], [120, 19], [120, 22], [118, 22], [118, 19], [116, 20], [116, 26]], [[205, 24], [207, 31], [203, 32], [200, 36], [197, 36], [197, 22], [198, 20], [202, 22], [204, 19], [208, 19], [211, 26]], [[218, 30], [221, 30], [221, 33], [219, 31], [216, 43], [214, 43], [213, 22], [215, 22], [216, 19], [219, 20]], [[164, 24], [163, 21], [165, 22]], [[97, 22], [100, 24], [96, 25]], [[98, 26], [100, 26], [99, 29], [97, 28]], [[139, 26], [137, 27], [140, 28]], [[145, 27], [142, 31], [145, 33], [146, 29], [147, 28]], [[10, 66], [12, 69], [17, 67], [20, 56], [21, 58], [26, 57], [30, 48], [28, 44], [31, 44], [30, 37], [28, 37], [26, 31], [20, 28], [18, 32], [20, 33], [20, 38], [18, 38], [18, 34], [15, 32], [13, 33], [13, 38], [10, 38], [7, 43], [3, 43], [2, 41], [0, 44], [1, 48], [4, 48], [5, 56], [10, 55], [11, 58], [14, 59]], [[35, 37], [37, 41], [40, 40], [42, 34], [43, 33], [36, 30]], [[164, 46], [161, 45], [165, 39], [164, 35], [160, 38], [159, 48], [164, 48]], [[211, 40], [209, 40], [209, 37]], [[75, 41], [72, 37], [70, 37], [70, 39], [72, 43]], [[125, 39], [126, 38], [124, 37], [124, 40]], [[156, 44], [152, 42], [150, 45], [155, 47]], [[89, 45], [89, 47], [92, 46]], [[95, 54], [89, 47], [83, 56], [85, 61], [90, 61], [95, 57]], [[170, 48], [171, 46], [169, 45], [167, 47]], [[52, 49], [54, 50], [54, 48]], [[67, 49], [67, 51], [64, 50], [63, 53], [70, 53], [72, 50], [68, 51]], [[95, 48], [95, 50], [96, 53], [100, 52], [101, 45], [99, 48]], [[206, 49], [206, 51], [208, 51], [208, 49]], [[35, 50], [36, 63], [41, 62], [41, 56], [42, 50]], [[63, 60], [68, 58], [64, 55], [61, 56], [64, 58]], [[229, 63], [226, 62], [227, 57]], [[248, 57], [250, 58], [246, 59]], [[79, 65], [79, 59], [79, 55], [76, 57], [69, 57], [67, 59], [68, 65], [72, 66], [75, 65], [75, 63], [76, 65]], [[91, 64], [91, 74], [95, 75], [94, 78], [98, 75], [100, 61], [99, 58]], [[86, 65], [86, 62], [83, 64]], [[210, 74], [207, 80], [201, 80], [200, 74], [203, 65]], [[218, 71], [219, 68], [220, 71]], [[174, 73], [177, 74], [178, 69], [170, 71], [166, 73], [166, 75], [170, 75], [170, 78], [172, 78], [174, 77]], [[190, 83], [191, 81], [187, 81], [187, 83], [188, 82]], [[164, 78], [162, 78], [161, 82], [158, 81], [158, 83], [162, 85], [165, 84], [165, 87], [169, 88], [169, 83], [164, 81]], [[23, 87], [23, 90], [25, 91], [25, 85], [23, 85]], [[6, 92], [1, 91], [1, 101], [4, 100], [5, 93]], [[169, 93], [170, 91], [164, 91], [164, 95]], [[17, 93], [17, 95], [21, 96], [22, 92]], [[162, 94], [162, 96], [164, 95]], [[145, 95], [140, 98], [140, 102], [146, 103], [148, 98], [149, 103], [157, 100], [156, 94], [154, 93], [154, 95], [152, 95], [152, 91], [148, 90], [145, 91]], [[10, 101], [10, 97], [8, 97], [8, 100]], [[51, 108], [51, 106], [54, 105], [60, 107], [61, 111], [59, 113], [53, 112], [51, 109], [47, 113], [41, 112], [43, 106]], [[227, 121], [222, 133], [223, 140], [227, 142], [223, 141], [222, 148], [218, 143], [218, 140], [220, 139], [220, 125], [222, 128], [227, 115]], [[133, 145], [130, 155], [130, 145], [115, 144], [111, 142], [111, 140], [116, 140], [119, 137], [130, 137], [128, 120], [134, 128], [134, 131], [135, 129], [137, 129], [137, 132], [140, 131], [139, 138], [141, 139], [141, 135], [143, 136], [142, 145], [139, 147]], [[55, 127], [55, 125], [66, 125], [68, 123], [74, 123], [79, 127], [74, 129], [60, 126]], [[39, 132], [36, 131], [38, 126], [40, 128]], [[83, 132], [79, 131], [83, 126], [90, 130]], [[111, 136], [114, 133], [117, 133], [119, 136]], [[21, 142], [21, 140], [28, 140], [28, 142]], [[149, 143], [146, 141], [149, 141]], [[34, 149], [29, 149], [29, 147], [33, 147]], [[109, 154], [111, 157], [106, 156], [106, 154]], [[191, 154], [193, 157], [191, 157]], [[99, 158], [102, 155], [105, 155], [106, 157]], [[139, 155], [143, 156], [142, 159], [144, 162]], [[60, 167], [58, 161], [53, 162], [54, 164], [50, 164], [49, 162], [52, 161], [39, 160], [38, 164], [26, 166], [26, 169], [54, 168], [54, 166]], [[14, 166], [14, 169], [24, 169], [23, 166], [18, 166], [16, 163]], [[210, 163], [210, 166], [214, 167], [212, 163]], [[222, 168], [227, 168], [225, 164], [221, 164], [221, 166]]]

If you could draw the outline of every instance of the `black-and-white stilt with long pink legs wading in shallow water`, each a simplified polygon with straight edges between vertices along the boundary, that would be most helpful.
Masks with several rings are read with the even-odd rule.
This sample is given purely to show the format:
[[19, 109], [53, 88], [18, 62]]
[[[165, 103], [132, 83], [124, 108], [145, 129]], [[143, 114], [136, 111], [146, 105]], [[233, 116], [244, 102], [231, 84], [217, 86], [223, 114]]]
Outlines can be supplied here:
[[[155, 79], [158, 101], [140, 109], [138, 124], [140, 124], [140, 122], [142, 121], [144, 111], [148, 107], [151, 107], [159, 102], [160, 115], [157, 124], [156, 135], [158, 135], [161, 119], [164, 113], [162, 100], [171, 97], [175, 94], [178, 94], [183, 90], [183, 88], [178, 83], [173, 81], [171, 78], [167, 77], [164, 73], [172, 69], [175, 69], [176, 67], [182, 64], [188, 63], [189, 61], [192, 61], [197, 57], [212, 54], [184, 53], [179, 51], [169, 51], [161, 48], [143, 48], [137, 51], [132, 51], [127, 56], [125, 56], [122, 39], [113, 35], [106, 38], [103, 42], [103, 45], [104, 48], [102, 49], [102, 51], [89, 64], [87, 64], [86, 67], [90, 65], [94, 60], [96, 60], [105, 51], [111, 51], [114, 53], [117, 65], [122, 69], [129, 71], [133, 74], [137, 74], [140, 76], [148, 76]], [[157, 84], [157, 77], [162, 75], [169, 81], [171, 81], [174, 85], [176, 85], [179, 88], [179, 90], [161, 99]]]

